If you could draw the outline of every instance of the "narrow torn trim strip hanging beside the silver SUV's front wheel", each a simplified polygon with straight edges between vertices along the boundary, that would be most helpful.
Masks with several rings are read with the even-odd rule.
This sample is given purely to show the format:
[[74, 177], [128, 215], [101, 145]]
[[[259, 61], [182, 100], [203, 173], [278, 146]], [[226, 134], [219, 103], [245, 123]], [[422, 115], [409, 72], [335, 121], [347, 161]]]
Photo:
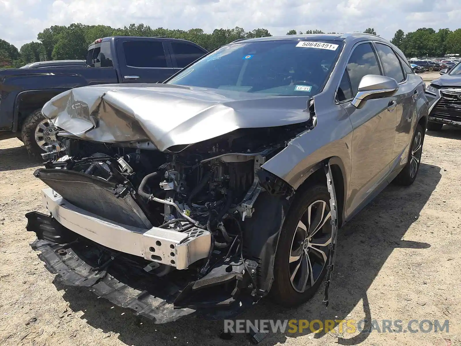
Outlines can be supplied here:
[[329, 304], [328, 292], [330, 290], [331, 279], [333, 276], [333, 270], [335, 266], [335, 257], [336, 257], [336, 241], [338, 233], [338, 210], [337, 210], [337, 199], [335, 192], [335, 185], [333, 183], [333, 174], [331, 173], [330, 162], [325, 163], [324, 165], [325, 175], [326, 175], [326, 186], [328, 192], [330, 192], [330, 209], [331, 209], [331, 243], [328, 246], [330, 250], [330, 257], [328, 259], [328, 269], [325, 276], [325, 292], [323, 303], [326, 307]]

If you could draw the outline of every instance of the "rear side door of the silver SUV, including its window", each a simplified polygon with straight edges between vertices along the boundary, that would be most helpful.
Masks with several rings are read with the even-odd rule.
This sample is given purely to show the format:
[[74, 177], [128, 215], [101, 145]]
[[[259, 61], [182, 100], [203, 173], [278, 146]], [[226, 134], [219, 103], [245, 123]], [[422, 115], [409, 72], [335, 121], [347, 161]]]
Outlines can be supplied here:
[[[409, 78], [408, 72], [403, 70], [402, 62], [397, 57], [394, 50], [382, 42], [374, 43], [384, 75], [394, 78], [399, 84], [396, 94], [390, 98], [388, 107], [388, 120], [394, 121], [395, 141], [392, 150], [391, 168], [395, 168], [397, 163], [406, 158], [407, 146], [409, 143], [408, 136], [411, 131], [411, 122], [415, 112], [415, 100], [418, 97], [418, 78]], [[411, 68], [409, 69], [411, 71]], [[413, 72], [411, 76], [415, 77]], [[393, 108], [393, 110], [391, 110]]]

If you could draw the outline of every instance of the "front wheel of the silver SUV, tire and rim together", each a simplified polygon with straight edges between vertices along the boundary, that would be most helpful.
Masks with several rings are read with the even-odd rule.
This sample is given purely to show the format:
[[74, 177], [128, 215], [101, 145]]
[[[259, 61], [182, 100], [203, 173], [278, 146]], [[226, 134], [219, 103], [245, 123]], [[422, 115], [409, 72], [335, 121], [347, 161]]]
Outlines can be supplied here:
[[332, 240], [327, 187], [313, 185], [299, 193], [280, 234], [270, 292], [275, 303], [286, 307], [307, 302], [319, 289]]

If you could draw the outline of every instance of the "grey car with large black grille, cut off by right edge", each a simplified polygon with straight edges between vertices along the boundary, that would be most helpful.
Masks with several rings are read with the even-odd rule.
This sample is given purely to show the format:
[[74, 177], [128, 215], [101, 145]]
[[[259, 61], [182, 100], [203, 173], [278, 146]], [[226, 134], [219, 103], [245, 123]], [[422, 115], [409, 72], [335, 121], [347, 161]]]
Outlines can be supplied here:
[[431, 131], [442, 129], [443, 124], [461, 126], [461, 63], [440, 74], [426, 88], [430, 104], [427, 129]]

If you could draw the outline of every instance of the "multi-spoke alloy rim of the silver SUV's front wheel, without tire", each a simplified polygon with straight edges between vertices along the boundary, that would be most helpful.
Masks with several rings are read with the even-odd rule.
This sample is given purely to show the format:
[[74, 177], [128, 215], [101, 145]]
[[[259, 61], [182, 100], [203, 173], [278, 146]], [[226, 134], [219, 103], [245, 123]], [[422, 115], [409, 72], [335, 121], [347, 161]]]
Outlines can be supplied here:
[[311, 203], [298, 221], [291, 241], [288, 270], [291, 286], [305, 292], [319, 279], [328, 261], [331, 211], [323, 200]]

